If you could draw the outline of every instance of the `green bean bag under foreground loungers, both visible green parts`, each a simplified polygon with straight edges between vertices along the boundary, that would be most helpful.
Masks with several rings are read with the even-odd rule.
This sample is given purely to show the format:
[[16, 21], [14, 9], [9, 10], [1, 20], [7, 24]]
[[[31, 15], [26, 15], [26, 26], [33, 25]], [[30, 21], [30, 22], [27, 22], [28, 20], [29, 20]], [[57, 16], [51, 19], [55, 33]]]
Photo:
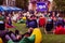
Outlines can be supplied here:
[[[36, 38], [35, 34], [28, 38], [23, 38], [18, 43], [35, 43], [35, 38]], [[8, 43], [15, 43], [15, 42], [9, 40]]]

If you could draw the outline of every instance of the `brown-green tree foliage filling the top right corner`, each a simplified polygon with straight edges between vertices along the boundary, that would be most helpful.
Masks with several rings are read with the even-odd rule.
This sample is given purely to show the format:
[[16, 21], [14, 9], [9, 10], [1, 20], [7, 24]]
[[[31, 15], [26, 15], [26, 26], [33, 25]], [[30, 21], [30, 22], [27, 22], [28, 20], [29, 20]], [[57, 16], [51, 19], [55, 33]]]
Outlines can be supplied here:
[[53, 0], [55, 2], [55, 10], [65, 11], [65, 0]]

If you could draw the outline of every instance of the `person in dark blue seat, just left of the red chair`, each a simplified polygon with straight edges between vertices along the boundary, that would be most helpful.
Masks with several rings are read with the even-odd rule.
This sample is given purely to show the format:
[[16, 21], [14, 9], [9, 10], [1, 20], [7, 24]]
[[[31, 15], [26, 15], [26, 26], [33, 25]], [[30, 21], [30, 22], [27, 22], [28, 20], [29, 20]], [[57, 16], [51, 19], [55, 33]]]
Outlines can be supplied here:
[[36, 16], [31, 15], [29, 19], [27, 19], [27, 27], [32, 27], [32, 28], [37, 28], [37, 20], [36, 20]]

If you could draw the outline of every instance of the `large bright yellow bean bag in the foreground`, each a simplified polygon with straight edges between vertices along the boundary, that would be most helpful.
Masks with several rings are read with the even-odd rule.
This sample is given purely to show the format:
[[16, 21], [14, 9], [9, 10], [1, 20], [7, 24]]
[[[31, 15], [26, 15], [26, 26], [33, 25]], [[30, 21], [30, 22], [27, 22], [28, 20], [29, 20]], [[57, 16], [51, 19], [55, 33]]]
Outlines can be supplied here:
[[41, 43], [41, 41], [42, 41], [42, 34], [41, 34], [40, 29], [39, 28], [35, 28], [34, 31], [32, 31], [32, 34], [36, 35], [35, 43]]

